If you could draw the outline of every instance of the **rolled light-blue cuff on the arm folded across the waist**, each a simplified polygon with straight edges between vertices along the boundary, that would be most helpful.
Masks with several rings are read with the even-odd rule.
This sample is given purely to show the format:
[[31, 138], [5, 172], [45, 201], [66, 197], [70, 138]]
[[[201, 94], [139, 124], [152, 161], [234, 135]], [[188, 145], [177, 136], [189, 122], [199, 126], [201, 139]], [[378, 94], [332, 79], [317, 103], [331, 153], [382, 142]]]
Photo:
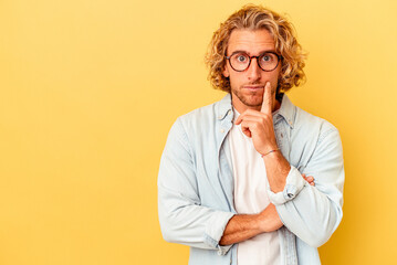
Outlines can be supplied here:
[[218, 255], [228, 253], [232, 245], [221, 246], [219, 241], [229, 220], [234, 215], [231, 212], [215, 212], [208, 220], [205, 234], [205, 243], [211, 247], [218, 248]]

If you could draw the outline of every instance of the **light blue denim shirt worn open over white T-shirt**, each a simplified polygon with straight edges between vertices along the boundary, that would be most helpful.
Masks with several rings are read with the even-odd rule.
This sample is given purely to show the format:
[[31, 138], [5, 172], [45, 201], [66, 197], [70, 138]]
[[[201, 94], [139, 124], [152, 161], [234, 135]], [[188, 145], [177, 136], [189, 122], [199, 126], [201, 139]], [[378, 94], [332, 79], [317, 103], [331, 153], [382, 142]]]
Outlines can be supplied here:
[[[237, 264], [237, 245], [219, 240], [233, 205], [233, 173], [228, 132], [231, 96], [179, 117], [171, 127], [158, 174], [163, 236], [190, 246], [190, 265]], [[283, 191], [268, 192], [284, 226], [282, 264], [321, 264], [317, 247], [342, 220], [344, 165], [337, 129], [283, 96], [273, 114], [278, 146], [291, 165]], [[315, 187], [301, 176], [313, 176]]]

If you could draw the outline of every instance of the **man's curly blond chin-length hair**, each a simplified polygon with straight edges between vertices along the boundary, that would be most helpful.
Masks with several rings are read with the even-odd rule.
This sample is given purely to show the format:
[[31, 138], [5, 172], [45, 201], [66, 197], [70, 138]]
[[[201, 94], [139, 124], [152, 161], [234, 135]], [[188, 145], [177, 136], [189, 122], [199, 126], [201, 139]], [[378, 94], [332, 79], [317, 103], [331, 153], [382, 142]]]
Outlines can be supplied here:
[[226, 52], [233, 30], [268, 30], [274, 39], [275, 51], [282, 56], [278, 94], [305, 82], [303, 67], [306, 54], [297, 43], [293, 25], [276, 12], [262, 6], [248, 4], [231, 14], [213, 33], [206, 54], [210, 68], [208, 80], [213, 88], [230, 93], [230, 82], [222, 72], [226, 66]]

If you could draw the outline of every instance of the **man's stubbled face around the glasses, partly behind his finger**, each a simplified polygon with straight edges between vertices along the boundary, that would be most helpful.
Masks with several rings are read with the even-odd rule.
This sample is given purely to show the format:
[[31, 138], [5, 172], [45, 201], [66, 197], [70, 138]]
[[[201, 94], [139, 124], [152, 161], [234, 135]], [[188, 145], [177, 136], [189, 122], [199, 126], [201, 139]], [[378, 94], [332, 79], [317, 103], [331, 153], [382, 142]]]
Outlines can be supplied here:
[[[267, 30], [233, 30], [229, 39], [227, 55], [230, 56], [237, 51], [242, 51], [250, 56], [258, 56], [263, 52], [275, 52], [274, 41]], [[260, 110], [267, 82], [270, 82], [273, 99], [275, 98], [281, 63], [273, 71], [264, 72], [259, 67], [257, 60], [251, 59], [250, 66], [243, 72], [237, 72], [229, 62], [226, 63], [223, 75], [230, 80], [232, 104], [239, 113], [248, 108]]]

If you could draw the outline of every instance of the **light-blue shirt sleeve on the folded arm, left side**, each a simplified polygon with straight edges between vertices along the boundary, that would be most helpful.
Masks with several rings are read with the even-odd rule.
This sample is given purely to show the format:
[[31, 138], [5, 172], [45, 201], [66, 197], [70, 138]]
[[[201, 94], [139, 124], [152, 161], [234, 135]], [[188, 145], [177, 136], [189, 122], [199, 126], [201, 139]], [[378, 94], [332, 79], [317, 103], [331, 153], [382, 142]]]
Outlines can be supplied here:
[[230, 246], [219, 241], [233, 213], [202, 206], [191, 148], [179, 119], [168, 135], [158, 173], [158, 214], [166, 241], [218, 251]]

